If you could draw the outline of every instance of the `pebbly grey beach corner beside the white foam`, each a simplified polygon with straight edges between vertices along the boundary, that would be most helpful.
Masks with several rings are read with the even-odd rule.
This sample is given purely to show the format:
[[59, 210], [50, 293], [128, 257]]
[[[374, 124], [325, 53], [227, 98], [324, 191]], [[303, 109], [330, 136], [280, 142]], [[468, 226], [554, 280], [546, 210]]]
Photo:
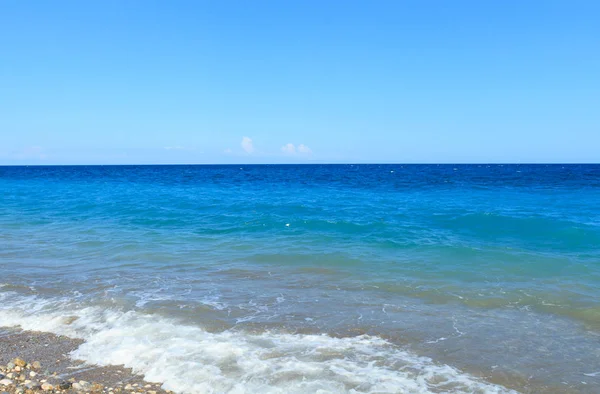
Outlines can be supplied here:
[[73, 360], [80, 339], [0, 327], [0, 392], [173, 394], [131, 368]]

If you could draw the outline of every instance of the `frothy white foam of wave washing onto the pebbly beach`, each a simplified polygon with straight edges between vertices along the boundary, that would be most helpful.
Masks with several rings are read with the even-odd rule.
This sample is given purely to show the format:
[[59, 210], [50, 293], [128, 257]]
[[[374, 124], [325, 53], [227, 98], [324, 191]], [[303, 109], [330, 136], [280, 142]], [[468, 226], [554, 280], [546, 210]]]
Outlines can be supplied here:
[[6, 292], [0, 304], [0, 326], [82, 338], [73, 357], [124, 364], [175, 392], [514, 392], [373, 336], [210, 333], [157, 315]]

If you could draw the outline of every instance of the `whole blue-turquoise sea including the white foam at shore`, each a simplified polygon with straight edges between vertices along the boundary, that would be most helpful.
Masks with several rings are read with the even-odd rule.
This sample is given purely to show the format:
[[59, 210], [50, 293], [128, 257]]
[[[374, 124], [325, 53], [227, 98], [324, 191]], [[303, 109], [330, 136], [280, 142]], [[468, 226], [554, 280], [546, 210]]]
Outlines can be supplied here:
[[180, 393], [598, 393], [600, 165], [0, 167], [0, 326]]

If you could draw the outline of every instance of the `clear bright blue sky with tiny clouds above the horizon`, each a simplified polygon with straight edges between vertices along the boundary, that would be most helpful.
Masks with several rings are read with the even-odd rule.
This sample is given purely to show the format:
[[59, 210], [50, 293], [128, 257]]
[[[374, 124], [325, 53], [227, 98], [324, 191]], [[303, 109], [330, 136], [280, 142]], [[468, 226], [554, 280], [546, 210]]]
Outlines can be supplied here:
[[0, 164], [600, 162], [600, 1], [0, 1]]

